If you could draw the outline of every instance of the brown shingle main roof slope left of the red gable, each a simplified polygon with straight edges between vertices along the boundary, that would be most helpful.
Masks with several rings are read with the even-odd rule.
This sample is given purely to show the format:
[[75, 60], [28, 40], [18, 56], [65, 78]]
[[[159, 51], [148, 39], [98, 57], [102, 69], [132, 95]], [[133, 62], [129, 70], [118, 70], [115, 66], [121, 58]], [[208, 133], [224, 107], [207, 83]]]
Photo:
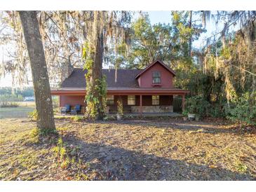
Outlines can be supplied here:
[[[135, 76], [140, 73], [140, 69], [118, 69], [117, 81], [115, 82], [115, 69], [102, 69], [102, 73], [107, 76], [107, 87], [111, 88], [138, 88]], [[86, 71], [75, 68], [72, 74], [62, 82], [61, 88], [86, 88]]]

